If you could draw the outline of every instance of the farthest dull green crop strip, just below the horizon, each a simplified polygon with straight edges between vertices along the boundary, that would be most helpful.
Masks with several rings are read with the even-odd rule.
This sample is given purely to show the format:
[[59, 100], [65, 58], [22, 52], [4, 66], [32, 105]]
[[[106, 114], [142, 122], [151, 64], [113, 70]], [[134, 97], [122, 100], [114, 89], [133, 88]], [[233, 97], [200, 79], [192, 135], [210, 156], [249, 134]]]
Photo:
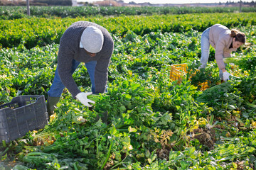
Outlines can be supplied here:
[[[2, 19], [26, 18], [26, 6], [0, 6]], [[134, 16], [153, 14], [185, 14], [185, 13], [233, 13], [238, 7], [115, 7], [115, 6], [31, 6], [31, 16], [36, 17], [88, 17], [88, 16]], [[255, 8], [243, 7], [242, 12], [255, 12]]]

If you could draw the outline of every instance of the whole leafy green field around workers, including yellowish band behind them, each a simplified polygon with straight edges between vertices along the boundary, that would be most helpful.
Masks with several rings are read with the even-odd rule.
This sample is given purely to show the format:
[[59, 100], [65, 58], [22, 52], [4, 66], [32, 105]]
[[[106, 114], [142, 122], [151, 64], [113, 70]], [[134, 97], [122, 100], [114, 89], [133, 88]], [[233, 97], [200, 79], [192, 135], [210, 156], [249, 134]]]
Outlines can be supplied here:
[[[107, 93], [87, 108], [65, 90], [44, 129], [0, 143], [0, 169], [256, 168], [256, 13], [3, 18], [0, 104], [21, 95], [47, 98], [60, 37], [75, 21], [112, 34]], [[213, 47], [206, 70], [193, 74], [201, 33], [215, 23], [247, 35], [225, 83]], [[186, 75], [171, 81], [171, 65], [182, 63]], [[84, 64], [73, 77], [81, 91], [90, 91]], [[201, 91], [204, 81], [209, 88]], [[105, 111], [107, 124], [97, 120]]]

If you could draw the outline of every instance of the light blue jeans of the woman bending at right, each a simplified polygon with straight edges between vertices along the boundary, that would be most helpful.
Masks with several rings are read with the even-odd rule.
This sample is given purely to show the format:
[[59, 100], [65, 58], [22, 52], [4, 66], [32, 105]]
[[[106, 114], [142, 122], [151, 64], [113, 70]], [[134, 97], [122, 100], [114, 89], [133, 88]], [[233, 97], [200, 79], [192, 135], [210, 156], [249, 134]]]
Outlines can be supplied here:
[[[203, 31], [201, 36], [201, 60], [200, 60], [201, 66], [199, 67], [199, 69], [201, 68], [205, 69], [209, 59], [209, 53], [210, 53], [209, 32], [210, 32], [210, 28], [207, 28], [206, 30]], [[223, 79], [223, 72], [221, 69], [219, 72], [219, 76], [220, 76], [220, 79]]]

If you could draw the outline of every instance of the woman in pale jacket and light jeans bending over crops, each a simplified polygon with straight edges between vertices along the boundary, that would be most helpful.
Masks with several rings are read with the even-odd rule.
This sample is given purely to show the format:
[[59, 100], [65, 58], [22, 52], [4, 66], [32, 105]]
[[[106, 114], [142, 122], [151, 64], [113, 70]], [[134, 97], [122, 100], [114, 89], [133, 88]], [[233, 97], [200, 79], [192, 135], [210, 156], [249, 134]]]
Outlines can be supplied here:
[[223, 57], [231, 57], [231, 52], [245, 44], [245, 33], [239, 30], [229, 30], [220, 24], [215, 24], [203, 31], [201, 37], [201, 68], [206, 68], [209, 58], [210, 45], [215, 48], [215, 60], [220, 69], [220, 79], [228, 81], [230, 73], [225, 69]]

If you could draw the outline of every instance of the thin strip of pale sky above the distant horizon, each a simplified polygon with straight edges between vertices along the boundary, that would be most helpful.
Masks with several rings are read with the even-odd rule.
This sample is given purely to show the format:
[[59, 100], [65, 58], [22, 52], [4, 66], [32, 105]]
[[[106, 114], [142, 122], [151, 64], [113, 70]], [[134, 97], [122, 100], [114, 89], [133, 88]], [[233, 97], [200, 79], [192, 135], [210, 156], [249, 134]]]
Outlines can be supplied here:
[[[77, 0], [77, 1], [102, 1], [102, 0]], [[151, 4], [191, 4], [191, 3], [225, 3], [227, 1], [238, 2], [240, 0], [123, 0], [125, 3], [134, 1], [136, 3], [149, 2]], [[243, 2], [251, 2], [252, 0], [242, 0]]]

